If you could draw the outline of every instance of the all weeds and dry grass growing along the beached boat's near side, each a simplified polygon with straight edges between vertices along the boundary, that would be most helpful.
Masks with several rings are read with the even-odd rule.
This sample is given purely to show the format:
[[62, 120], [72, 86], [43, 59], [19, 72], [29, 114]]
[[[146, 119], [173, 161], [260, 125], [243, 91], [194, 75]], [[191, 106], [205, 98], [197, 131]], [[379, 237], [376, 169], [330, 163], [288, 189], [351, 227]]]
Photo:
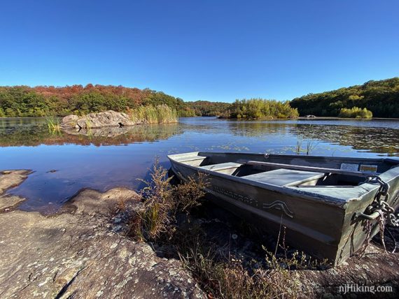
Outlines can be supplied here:
[[[141, 191], [143, 206], [130, 214], [126, 235], [136, 242], [151, 243], [155, 251], [167, 258], [180, 259], [184, 268], [193, 273], [202, 291], [209, 298], [277, 298], [287, 295], [296, 298], [300, 284], [293, 282], [290, 270], [325, 270], [331, 268], [327, 260], [312, 259], [304, 252], [288, 249], [285, 228], [281, 240], [272, 238], [274, 247], [261, 245], [256, 256], [249, 258], [233, 250], [234, 245], [219, 245], [209, 232], [195, 221], [195, 209], [204, 203], [207, 175], [200, 173], [195, 180], [172, 183], [174, 177], [155, 159]], [[121, 203], [121, 210], [127, 205]], [[260, 231], [241, 224], [238, 235], [255, 236]], [[221, 239], [221, 238], [220, 238]], [[276, 241], [276, 242], [275, 242]], [[290, 288], [287, 288], [290, 286]]]

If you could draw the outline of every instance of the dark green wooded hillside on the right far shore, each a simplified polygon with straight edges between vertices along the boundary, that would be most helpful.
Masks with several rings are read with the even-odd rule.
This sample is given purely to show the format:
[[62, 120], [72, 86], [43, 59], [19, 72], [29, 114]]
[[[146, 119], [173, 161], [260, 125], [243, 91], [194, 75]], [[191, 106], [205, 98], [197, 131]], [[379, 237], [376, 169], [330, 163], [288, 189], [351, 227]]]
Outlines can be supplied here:
[[[371, 80], [363, 85], [307, 94], [293, 99], [290, 105], [297, 108], [301, 116], [336, 117], [341, 112], [341, 116], [346, 116], [348, 111], [342, 110], [343, 108], [365, 108], [372, 112], [373, 117], [395, 118], [399, 117], [399, 78]], [[366, 116], [370, 117], [370, 113]]]

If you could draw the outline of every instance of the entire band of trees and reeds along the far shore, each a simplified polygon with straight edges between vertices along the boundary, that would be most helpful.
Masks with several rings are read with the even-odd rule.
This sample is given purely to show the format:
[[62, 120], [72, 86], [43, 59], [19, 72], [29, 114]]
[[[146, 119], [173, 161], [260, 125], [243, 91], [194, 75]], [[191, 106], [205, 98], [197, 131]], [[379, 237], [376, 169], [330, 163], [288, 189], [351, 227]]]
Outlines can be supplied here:
[[0, 87], [0, 117], [62, 117], [106, 110], [144, 116], [151, 123], [174, 122], [178, 117], [194, 116], [228, 119], [283, 119], [306, 115], [399, 118], [399, 78], [370, 80], [363, 85], [307, 94], [285, 102], [267, 99], [242, 99], [234, 103], [185, 102], [151, 89], [111, 85]]

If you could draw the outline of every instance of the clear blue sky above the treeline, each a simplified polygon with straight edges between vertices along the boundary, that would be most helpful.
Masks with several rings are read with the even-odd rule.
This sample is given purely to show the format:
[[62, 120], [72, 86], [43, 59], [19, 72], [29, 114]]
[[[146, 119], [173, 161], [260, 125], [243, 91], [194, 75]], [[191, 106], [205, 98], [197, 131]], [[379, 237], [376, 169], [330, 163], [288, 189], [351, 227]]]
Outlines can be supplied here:
[[286, 100], [399, 75], [399, 1], [13, 0], [0, 85]]

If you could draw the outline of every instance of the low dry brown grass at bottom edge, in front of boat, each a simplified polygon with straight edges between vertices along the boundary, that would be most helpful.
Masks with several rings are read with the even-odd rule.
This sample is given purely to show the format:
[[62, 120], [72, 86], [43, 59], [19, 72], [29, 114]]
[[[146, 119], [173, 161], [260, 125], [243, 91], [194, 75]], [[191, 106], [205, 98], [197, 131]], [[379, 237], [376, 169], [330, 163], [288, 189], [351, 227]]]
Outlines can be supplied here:
[[[281, 265], [263, 269], [244, 267], [239, 260], [221, 256], [216, 247], [204, 245], [203, 236], [180, 249], [183, 265], [193, 272], [209, 298], [297, 298], [299, 283]], [[186, 244], [187, 245], [187, 244]]]

